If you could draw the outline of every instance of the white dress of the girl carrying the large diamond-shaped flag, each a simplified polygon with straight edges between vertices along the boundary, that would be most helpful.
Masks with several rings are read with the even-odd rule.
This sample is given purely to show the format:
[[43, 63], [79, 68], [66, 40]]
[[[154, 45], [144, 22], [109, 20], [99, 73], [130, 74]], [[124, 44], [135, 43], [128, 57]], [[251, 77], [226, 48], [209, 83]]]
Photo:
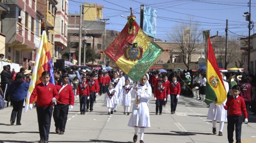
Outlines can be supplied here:
[[[136, 98], [136, 90], [132, 90], [133, 98]], [[149, 118], [149, 106], [148, 101], [151, 98], [151, 87], [147, 85], [141, 86], [138, 85], [138, 95], [139, 96], [139, 109], [136, 108], [136, 101], [133, 103], [132, 115], [128, 122], [130, 127], [150, 127], [150, 118]]]

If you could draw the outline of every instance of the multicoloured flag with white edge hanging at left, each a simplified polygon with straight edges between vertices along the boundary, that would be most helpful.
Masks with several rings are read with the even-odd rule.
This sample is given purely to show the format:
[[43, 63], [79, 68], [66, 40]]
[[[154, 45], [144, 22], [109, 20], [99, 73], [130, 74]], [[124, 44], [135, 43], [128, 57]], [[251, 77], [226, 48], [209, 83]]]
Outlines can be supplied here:
[[42, 72], [48, 71], [50, 73], [50, 82], [54, 84], [54, 74], [53, 74], [51, 53], [50, 53], [50, 48], [48, 47], [47, 44], [48, 44], [47, 35], [46, 35], [46, 31], [44, 30], [42, 31], [39, 48], [38, 50], [36, 50], [35, 65], [33, 68], [32, 79], [31, 79], [31, 82], [29, 83], [29, 88], [28, 88], [28, 93], [26, 98], [26, 105], [25, 105], [25, 112], [28, 111], [29, 98], [35, 86], [41, 82], [40, 77]]

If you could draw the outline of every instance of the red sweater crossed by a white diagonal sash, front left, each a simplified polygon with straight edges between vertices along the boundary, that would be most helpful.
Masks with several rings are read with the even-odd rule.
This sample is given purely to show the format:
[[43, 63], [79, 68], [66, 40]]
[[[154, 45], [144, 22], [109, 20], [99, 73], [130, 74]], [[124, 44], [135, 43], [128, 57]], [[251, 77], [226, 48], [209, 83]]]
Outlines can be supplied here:
[[[56, 88], [57, 88], [57, 92], [59, 93], [59, 90], [62, 88], [61, 83], [58, 83], [56, 85]], [[62, 89], [62, 91], [60, 91], [58, 101], [57, 101], [57, 104], [74, 105], [74, 92], [70, 85], [66, 85]]]

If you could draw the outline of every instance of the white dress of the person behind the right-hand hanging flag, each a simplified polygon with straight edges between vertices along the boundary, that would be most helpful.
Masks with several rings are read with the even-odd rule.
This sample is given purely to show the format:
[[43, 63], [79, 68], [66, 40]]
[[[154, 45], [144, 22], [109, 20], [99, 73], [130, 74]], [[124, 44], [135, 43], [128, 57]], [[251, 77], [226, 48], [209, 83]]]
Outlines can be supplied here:
[[[224, 87], [226, 92], [229, 90], [228, 82], [224, 82]], [[227, 96], [227, 95], [226, 95]], [[227, 102], [227, 99], [223, 102]], [[208, 120], [217, 120], [217, 121], [227, 121], [227, 111], [224, 109], [223, 105], [216, 105], [214, 102], [210, 103], [208, 115]]]

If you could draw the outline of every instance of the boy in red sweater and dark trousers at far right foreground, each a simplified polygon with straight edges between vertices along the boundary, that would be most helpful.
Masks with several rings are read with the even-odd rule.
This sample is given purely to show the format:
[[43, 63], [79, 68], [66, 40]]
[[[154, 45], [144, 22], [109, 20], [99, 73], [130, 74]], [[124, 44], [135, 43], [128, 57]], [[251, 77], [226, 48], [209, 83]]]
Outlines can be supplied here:
[[222, 103], [223, 107], [228, 111], [228, 142], [233, 143], [233, 133], [235, 130], [235, 139], [236, 142], [241, 142], [241, 129], [242, 129], [242, 120], [245, 116], [245, 124], [248, 123], [248, 115], [246, 111], [245, 100], [239, 96], [241, 89], [239, 86], [235, 85], [232, 87], [232, 95], [226, 102]]

